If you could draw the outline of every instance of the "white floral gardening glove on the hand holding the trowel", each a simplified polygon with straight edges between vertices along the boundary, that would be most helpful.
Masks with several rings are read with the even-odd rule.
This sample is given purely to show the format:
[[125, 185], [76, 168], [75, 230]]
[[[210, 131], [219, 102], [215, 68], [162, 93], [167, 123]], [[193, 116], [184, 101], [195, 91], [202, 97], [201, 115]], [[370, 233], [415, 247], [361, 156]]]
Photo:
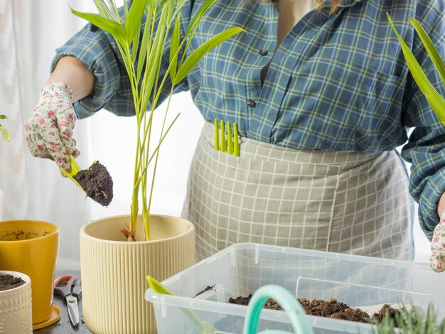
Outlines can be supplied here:
[[68, 173], [68, 154], [74, 158], [80, 154], [72, 137], [76, 120], [72, 100], [71, 88], [62, 82], [46, 85], [25, 123], [26, 146], [31, 154], [54, 160]]

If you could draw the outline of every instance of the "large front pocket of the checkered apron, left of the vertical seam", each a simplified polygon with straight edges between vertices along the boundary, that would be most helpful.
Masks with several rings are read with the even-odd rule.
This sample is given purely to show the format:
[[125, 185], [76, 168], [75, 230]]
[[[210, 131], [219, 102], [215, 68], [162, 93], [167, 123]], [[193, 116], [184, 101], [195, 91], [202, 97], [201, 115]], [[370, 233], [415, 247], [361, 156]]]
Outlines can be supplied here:
[[200, 259], [230, 244], [327, 250], [338, 166], [247, 159], [198, 142], [188, 219]]

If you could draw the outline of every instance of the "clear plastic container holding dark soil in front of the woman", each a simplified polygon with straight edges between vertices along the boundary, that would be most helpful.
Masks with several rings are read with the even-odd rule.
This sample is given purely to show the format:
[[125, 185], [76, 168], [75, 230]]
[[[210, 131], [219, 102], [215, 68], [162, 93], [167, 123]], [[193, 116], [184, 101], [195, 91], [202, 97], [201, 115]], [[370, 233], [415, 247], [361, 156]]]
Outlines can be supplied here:
[[[227, 247], [162, 283], [174, 296], [151, 289], [145, 294], [154, 304], [161, 334], [200, 333], [184, 309], [213, 325], [215, 334], [242, 333], [247, 307], [228, 300], [248, 296], [265, 284], [284, 286], [296, 298], [336, 298], [368, 313], [385, 303], [414, 305], [424, 312], [432, 302], [438, 318], [445, 318], [444, 275], [416, 262], [245, 243]], [[309, 316], [309, 322], [314, 333], [372, 333], [375, 329], [318, 316]], [[263, 310], [259, 330], [265, 329], [290, 330], [286, 314]]]

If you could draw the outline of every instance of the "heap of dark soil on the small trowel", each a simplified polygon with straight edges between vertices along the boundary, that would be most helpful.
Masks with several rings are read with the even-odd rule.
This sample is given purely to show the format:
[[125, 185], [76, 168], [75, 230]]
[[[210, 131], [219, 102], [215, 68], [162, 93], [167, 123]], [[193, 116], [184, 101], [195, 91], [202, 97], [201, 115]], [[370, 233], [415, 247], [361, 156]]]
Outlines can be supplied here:
[[87, 197], [103, 206], [108, 206], [111, 203], [113, 180], [107, 168], [99, 161], [93, 163], [90, 168], [79, 171], [73, 178], [85, 190]]

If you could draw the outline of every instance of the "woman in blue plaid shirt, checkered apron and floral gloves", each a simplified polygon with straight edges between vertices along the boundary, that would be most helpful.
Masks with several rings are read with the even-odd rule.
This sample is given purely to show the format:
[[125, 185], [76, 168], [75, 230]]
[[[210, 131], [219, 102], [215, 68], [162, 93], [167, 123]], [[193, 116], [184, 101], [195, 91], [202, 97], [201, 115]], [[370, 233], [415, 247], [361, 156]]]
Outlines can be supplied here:
[[[181, 31], [200, 4], [184, 7]], [[445, 190], [445, 128], [409, 75], [386, 12], [440, 82], [408, 19], [444, 45], [444, 10], [440, 0], [216, 2], [191, 50], [231, 26], [247, 34], [213, 49], [176, 87], [191, 91], [208, 121], [183, 210], [196, 226], [198, 259], [235, 242], [412, 259], [408, 188], [431, 237], [445, 208], [445, 200], [436, 207]], [[33, 155], [69, 168], [67, 154], [78, 155], [75, 119], [102, 108], [133, 114], [115, 48], [87, 25], [58, 49], [26, 124]], [[238, 124], [240, 157], [213, 149], [215, 118]], [[45, 127], [51, 122], [57, 126]], [[409, 139], [406, 127], [414, 128]], [[410, 180], [395, 151], [407, 139]]]

